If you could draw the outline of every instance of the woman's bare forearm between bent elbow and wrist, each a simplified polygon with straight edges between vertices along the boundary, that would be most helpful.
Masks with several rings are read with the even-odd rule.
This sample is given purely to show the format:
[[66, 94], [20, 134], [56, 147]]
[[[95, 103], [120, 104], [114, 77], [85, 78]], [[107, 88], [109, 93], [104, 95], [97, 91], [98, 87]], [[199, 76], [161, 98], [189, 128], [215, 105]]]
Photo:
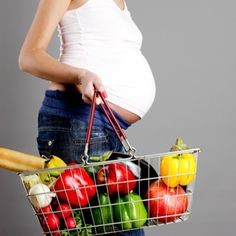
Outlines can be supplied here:
[[19, 68], [45, 80], [70, 84], [80, 84], [80, 78], [85, 72], [82, 68], [76, 68], [56, 60], [42, 49], [20, 53]]

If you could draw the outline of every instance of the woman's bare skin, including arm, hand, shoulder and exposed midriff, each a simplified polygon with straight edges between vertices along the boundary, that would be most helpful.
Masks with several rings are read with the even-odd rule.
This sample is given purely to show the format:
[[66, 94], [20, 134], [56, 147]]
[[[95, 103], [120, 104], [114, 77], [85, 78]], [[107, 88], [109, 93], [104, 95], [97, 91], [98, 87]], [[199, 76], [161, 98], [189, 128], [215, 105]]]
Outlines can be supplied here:
[[[19, 53], [18, 64], [21, 71], [50, 81], [51, 90], [76, 90], [83, 100], [91, 103], [94, 86], [98, 91], [106, 92], [101, 78], [94, 72], [62, 63], [47, 53], [57, 24], [67, 10], [81, 7], [88, 0], [40, 0], [34, 19], [28, 30]], [[124, 0], [113, 0], [123, 10]], [[97, 104], [101, 103], [97, 99]], [[140, 117], [113, 103], [109, 105], [129, 123]]]

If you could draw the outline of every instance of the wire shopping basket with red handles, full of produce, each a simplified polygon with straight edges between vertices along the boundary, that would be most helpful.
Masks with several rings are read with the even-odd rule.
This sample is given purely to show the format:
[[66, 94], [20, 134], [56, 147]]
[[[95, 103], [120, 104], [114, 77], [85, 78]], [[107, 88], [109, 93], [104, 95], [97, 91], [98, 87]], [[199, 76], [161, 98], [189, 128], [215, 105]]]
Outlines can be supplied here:
[[[102, 98], [102, 109], [124, 153], [109, 152], [106, 161], [92, 162], [88, 150], [97, 96]], [[43, 234], [118, 233], [186, 221], [191, 214], [199, 152], [199, 148], [185, 148], [135, 155], [108, 103], [95, 91], [82, 163], [26, 171], [19, 177]], [[55, 171], [59, 176], [55, 177]], [[43, 175], [49, 179], [47, 187], [39, 181]], [[26, 179], [33, 176], [37, 181], [28, 186]], [[35, 186], [41, 190], [31, 191]]]

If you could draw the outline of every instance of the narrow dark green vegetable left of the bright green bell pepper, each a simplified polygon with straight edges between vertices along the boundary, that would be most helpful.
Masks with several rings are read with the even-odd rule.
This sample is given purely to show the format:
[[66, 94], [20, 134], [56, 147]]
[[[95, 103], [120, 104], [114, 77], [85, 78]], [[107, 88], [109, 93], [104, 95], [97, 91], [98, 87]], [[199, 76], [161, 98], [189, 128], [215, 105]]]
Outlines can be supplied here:
[[112, 223], [112, 206], [110, 198], [107, 194], [100, 193], [99, 194], [99, 205], [98, 207], [93, 208], [92, 214], [95, 225], [105, 225], [107, 226], [99, 226], [96, 227], [98, 232], [109, 231], [110, 223]]

